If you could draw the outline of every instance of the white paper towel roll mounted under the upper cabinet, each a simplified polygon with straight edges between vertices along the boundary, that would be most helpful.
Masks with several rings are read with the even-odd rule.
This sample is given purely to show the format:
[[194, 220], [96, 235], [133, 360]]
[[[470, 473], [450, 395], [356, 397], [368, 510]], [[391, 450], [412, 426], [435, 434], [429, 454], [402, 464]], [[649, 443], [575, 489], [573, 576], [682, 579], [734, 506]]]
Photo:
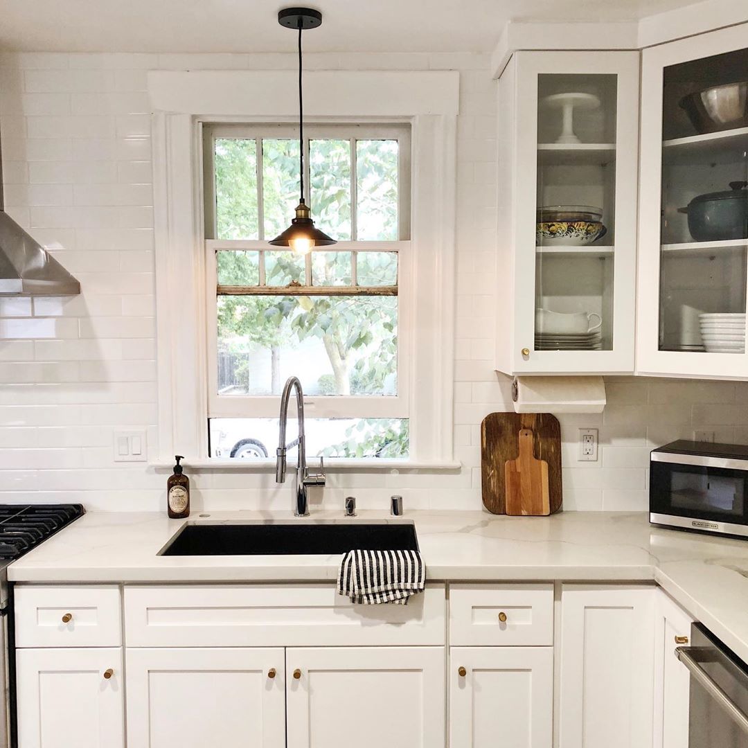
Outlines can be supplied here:
[[601, 413], [601, 376], [521, 376], [512, 383], [516, 413]]

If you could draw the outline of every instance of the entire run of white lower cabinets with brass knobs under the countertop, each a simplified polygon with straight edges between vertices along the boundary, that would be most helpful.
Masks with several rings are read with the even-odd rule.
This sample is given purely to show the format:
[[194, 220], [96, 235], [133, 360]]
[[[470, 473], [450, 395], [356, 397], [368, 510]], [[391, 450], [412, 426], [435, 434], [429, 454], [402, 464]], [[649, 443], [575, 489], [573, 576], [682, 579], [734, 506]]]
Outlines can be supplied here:
[[126, 588], [123, 671], [119, 646], [76, 646], [120, 641], [118, 592], [29, 586], [19, 748], [553, 748], [554, 702], [557, 748], [687, 744], [690, 618], [655, 586], [451, 592], [401, 610], [322, 585]]

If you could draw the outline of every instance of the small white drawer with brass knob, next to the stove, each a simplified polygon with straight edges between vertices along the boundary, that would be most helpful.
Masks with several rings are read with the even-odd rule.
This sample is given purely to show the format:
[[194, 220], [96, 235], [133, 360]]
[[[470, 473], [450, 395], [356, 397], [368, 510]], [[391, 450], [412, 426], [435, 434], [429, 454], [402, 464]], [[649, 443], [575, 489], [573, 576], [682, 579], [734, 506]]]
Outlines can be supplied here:
[[117, 586], [16, 586], [17, 647], [116, 647]]

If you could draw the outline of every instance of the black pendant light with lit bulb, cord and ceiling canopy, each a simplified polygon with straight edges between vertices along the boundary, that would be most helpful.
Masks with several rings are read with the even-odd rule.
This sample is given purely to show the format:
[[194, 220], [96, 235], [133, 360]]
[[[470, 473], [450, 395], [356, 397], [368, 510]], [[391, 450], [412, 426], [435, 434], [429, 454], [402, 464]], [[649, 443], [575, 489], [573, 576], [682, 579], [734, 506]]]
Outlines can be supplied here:
[[278, 13], [278, 23], [286, 28], [298, 29], [298, 178], [301, 196], [296, 206], [296, 217], [291, 225], [275, 237], [270, 244], [290, 247], [298, 254], [307, 254], [314, 247], [335, 244], [324, 231], [314, 227], [309, 207], [304, 200], [304, 96], [301, 88], [301, 31], [322, 25], [322, 13], [310, 7], [286, 7]]

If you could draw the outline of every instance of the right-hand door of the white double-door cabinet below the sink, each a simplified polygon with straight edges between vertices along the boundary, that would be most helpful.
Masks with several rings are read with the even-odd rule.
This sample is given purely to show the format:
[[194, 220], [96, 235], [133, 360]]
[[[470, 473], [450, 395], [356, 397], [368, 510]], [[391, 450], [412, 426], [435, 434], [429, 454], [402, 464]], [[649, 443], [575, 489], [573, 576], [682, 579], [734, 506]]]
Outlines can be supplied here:
[[288, 748], [444, 748], [443, 647], [287, 649], [286, 678]]

